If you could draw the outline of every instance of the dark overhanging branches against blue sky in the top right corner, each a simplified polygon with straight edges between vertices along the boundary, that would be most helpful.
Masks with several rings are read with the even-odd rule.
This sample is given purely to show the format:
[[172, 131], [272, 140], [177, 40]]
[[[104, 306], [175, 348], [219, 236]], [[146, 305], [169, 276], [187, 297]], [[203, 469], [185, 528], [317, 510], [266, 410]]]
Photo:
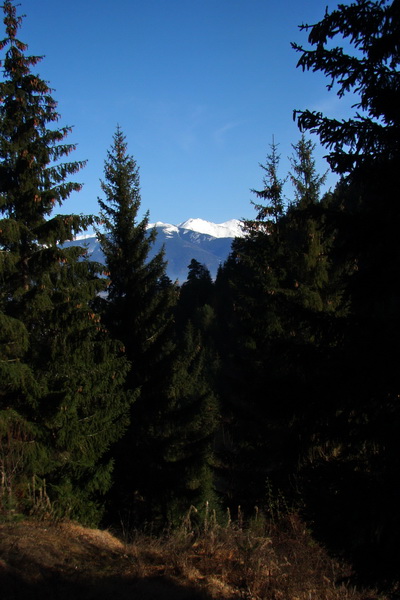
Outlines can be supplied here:
[[[302, 130], [316, 133], [329, 150], [327, 159], [334, 172], [349, 174], [362, 167], [365, 173], [398, 155], [398, 64], [397, 1], [356, 0], [339, 5], [315, 25], [302, 25], [309, 32], [310, 48], [292, 44], [301, 54], [298, 66], [321, 71], [339, 98], [355, 92], [359, 101], [354, 117], [338, 121], [321, 112], [296, 110]], [[348, 52], [334, 46], [336, 36], [348, 41]]]

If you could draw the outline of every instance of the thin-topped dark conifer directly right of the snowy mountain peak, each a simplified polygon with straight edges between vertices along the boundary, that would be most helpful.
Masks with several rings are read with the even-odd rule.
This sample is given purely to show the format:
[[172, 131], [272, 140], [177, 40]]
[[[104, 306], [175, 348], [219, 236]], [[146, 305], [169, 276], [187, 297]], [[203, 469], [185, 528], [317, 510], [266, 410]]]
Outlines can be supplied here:
[[[271, 469], [266, 446], [274, 397], [272, 340], [282, 334], [279, 281], [283, 278], [280, 221], [284, 214], [279, 155], [273, 142], [265, 165], [263, 190], [254, 191], [256, 219], [244, 222], [216, 281], [218, 351], [222, 356], [219, 393], [223, 414], [220, 476], [232, 509], [253, 510], [265, 500]], [[223, 294], [223, 303], [218, 300]], [[225, 315], [229, 317], [226, 319]], [[268, 365], [268, 366], [267, 366]], [[276, 374], [278, 377], [278, 374]], [[276, 404], [278, 405], [278, 403]]]

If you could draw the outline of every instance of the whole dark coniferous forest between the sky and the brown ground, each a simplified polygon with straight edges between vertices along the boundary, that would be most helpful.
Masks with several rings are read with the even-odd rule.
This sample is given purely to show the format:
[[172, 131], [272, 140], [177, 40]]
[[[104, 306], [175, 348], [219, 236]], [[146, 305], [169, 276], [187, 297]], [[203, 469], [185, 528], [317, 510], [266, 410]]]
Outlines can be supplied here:
[[[400, 3], [302, 26], [298, 67], [355, 94], [353, 117], [295, 110], [290, 173], [267, 144], [246, 236], [215, 281], [193, 259], [181, 286], [149, 259], [120, 127], [98, 214], [57, 214], [85, 165], [18, 10], [4, 0], [0, 515], [161, 531], [279, 497], [361, 577], [398, 580]], [[324, 194], [307, 134], [340, 176]], [[63, 246], [88, 226], [105, 265]]]

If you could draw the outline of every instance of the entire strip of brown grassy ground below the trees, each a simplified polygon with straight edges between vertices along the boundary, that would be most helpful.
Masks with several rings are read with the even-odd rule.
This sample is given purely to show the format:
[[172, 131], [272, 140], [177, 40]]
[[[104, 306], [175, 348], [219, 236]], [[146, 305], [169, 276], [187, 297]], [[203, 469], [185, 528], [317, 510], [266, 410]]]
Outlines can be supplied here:
[[358, 590], [296, 515], [247, 526], [190, 515], [181, 529], [121, 541], [76, 523], [0, 524], [2, 600], [384, 600]]

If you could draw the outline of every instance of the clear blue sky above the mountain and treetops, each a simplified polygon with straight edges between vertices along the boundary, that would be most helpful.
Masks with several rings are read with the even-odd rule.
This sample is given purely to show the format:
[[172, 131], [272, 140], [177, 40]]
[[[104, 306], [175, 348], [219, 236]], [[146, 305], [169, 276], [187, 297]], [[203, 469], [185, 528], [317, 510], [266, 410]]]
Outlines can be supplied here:
[[[296, 69], [321, 0], [21, 0], [20, 39], [45, 55], [37, 72], [73, 125], [83, 190], [61, 212], [97, 213], [116, 124], [140, 166], [151, 221], [251, 217], [274, 135], [281, 175], [300, 134], [293, 109], [344, 116], [318, 73]], [[321, 173], [324, 150], [317, 151]], [[333, 178], [329, 179], [332, 184]], [[287, 193], [290, 193], [288, 188]]]

